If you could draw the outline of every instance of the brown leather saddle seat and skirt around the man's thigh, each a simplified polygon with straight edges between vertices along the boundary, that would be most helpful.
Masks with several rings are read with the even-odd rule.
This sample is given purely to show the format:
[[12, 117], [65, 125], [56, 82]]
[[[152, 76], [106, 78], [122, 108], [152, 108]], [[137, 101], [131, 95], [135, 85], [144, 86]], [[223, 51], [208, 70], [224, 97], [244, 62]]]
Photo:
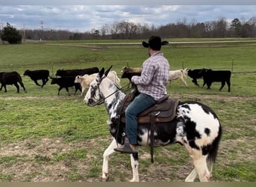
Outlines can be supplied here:
[[[124, 112], [131, 102], [127, 101], [129, 100], [127, 98], [124, 99], [124, 107], [121, 110], [122, 123], [125, 123]], [[174, 117], [176, 117], [176, 108], [179, 102], [179, 99], [168, 99], [167, 97], [162, 102], [156, 103], [138, 114], [138, 124], [152, 123], [152, 118], [154, 119], [154, 123], [166, 123], [174, 120]]]

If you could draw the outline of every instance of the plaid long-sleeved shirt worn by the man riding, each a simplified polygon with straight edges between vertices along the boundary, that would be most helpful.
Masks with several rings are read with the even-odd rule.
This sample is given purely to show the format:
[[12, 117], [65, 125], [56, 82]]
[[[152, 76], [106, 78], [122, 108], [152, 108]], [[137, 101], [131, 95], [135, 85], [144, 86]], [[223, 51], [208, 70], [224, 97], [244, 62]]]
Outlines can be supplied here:
[[132, 76], [132, 82], [138, 85], [138, 91], [150, 95], [158, 101], [167, 94], [170, 65], [162, 52], [156, 52], [142, 65], [141, 76]]

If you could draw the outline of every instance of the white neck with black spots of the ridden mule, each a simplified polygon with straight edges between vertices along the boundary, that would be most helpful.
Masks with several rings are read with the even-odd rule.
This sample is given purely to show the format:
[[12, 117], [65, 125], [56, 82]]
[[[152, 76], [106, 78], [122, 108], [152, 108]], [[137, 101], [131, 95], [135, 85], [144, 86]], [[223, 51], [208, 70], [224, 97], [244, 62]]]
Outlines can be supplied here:
[[103, 82], [103, 87], [100, 88], [100, 92], [105, 98], [106, 110], [109, 113], [109, 118], [115, 118], [118, 115], [118, 108], [126, 96], [125, 93], [120, 91], [114, 82]]

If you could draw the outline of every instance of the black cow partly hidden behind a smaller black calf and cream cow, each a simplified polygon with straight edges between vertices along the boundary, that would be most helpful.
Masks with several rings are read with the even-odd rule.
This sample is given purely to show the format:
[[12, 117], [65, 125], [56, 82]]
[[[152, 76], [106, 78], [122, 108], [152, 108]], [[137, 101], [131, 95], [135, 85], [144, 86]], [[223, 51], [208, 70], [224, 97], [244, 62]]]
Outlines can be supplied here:
[[91, 75], [93, 73], [99, 73], [99, 68], [97, 67], [91, 67], [87, 69], [75, 69], [75, 70], [57, 70], [56, 76], [61, 77], [76, 77], [76, 76], [83, 76], [85, 74]]

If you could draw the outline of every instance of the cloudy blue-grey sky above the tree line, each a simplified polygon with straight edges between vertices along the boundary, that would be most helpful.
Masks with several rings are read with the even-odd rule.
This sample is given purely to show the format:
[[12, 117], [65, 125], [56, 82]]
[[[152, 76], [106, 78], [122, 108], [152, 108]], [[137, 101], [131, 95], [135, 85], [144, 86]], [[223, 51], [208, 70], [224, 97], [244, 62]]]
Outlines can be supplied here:
[[[91, 31], [115, 22], [141, 25], [166, 25], [179, 21], [207, 22], [220, 18], [228, 22], [238, 18], [247, 21], [256, 16], [255, 0], [223, 1], [82, 1], [82, 0], [0, 0], [0, 28], [54, 29]], [[76, 5], [80, 4], [80, 5]]]

